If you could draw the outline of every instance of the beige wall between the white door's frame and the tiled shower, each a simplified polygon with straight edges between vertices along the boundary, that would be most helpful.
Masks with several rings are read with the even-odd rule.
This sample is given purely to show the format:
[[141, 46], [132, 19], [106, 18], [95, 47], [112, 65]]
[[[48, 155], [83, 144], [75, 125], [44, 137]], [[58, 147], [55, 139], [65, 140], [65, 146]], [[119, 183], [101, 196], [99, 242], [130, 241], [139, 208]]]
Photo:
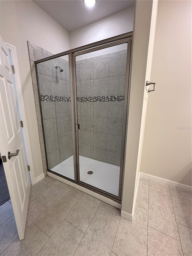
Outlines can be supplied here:
[[0, 34], [17, 50], [33, 165], [38, 177], [43, 173], [43, 165], [27, 40], [56, 54], [69, 50], [69, 33], [33, 1], [0, 1]]

